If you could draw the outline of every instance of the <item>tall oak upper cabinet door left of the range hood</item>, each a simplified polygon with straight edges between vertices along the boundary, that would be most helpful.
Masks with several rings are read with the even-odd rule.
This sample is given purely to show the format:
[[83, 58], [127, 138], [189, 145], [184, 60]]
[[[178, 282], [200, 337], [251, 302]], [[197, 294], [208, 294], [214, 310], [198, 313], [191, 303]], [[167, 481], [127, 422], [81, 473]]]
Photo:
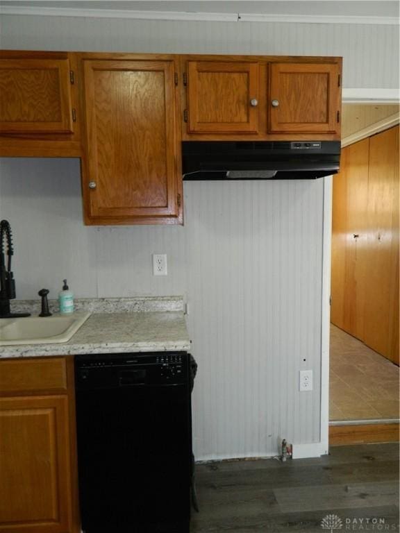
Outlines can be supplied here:
[[174, 62], [84, 60], [87, 223], [176, 223]]

